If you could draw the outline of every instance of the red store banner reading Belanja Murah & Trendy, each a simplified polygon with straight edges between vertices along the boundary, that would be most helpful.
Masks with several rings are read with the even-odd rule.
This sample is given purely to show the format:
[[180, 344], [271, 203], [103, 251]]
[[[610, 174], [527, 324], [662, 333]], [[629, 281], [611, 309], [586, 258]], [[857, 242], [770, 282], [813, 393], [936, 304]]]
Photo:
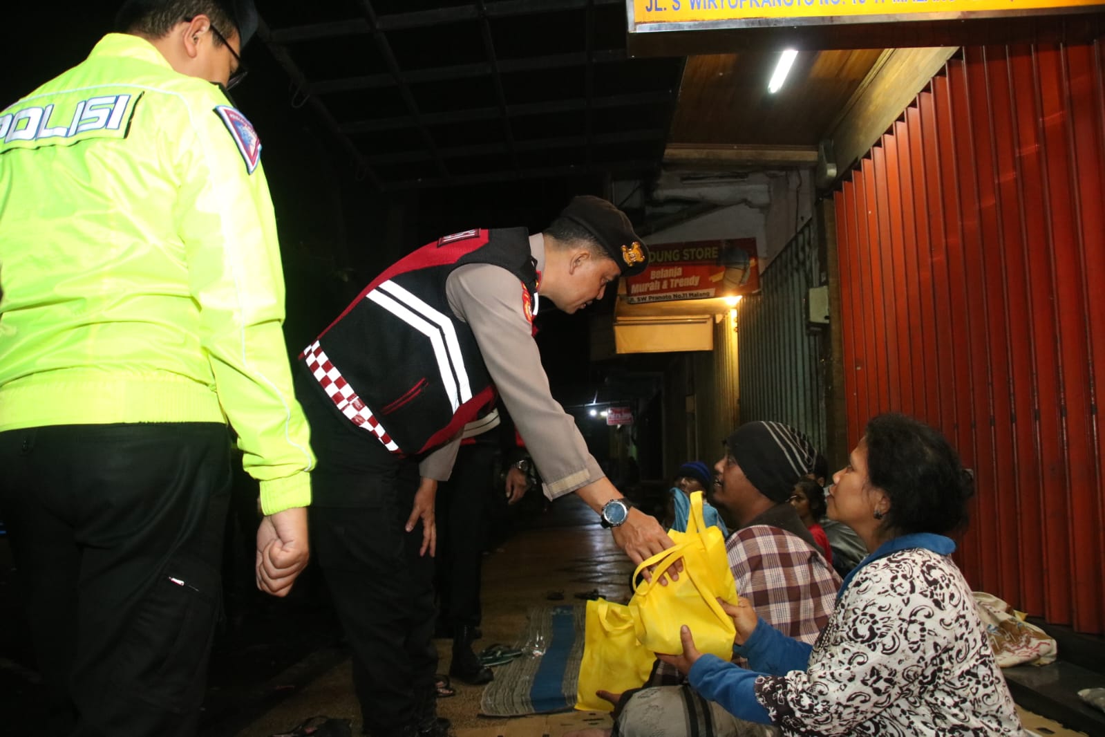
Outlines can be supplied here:
[[625, 278], [631, 305], [759, 291], [755, 238], [663, 243], [650, 245], [649, 254], [649, 267]]

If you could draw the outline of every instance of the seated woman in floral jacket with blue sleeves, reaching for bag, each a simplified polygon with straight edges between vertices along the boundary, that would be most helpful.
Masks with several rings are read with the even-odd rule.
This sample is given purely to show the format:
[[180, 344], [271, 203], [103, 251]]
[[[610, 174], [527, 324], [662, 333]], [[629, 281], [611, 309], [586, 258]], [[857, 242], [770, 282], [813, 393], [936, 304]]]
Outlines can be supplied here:
[[870, 555], [844, 579], [817, 642], [791, 640], [744, 600], [725, 604], [745, 670], [694, 646], [661, 655], [732, 714], [783, 735], [1023, 735], [970, 588], [945, 536], [971, 481], [940, 433], [901, 414], [867, 424], [833, 476], [829, 516]]

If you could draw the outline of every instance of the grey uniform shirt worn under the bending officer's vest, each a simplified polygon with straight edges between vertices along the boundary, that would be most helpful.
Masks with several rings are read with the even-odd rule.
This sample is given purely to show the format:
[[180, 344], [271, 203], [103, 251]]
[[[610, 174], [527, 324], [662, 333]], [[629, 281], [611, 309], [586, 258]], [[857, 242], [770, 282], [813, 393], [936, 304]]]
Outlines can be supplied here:
[[[545, 269], [545, 242], [530, 239], [537, 271]], [[576, 420], [552, 399], [533, 327], [522, 307], [522, 283], [501, 266], [469, 264], [445, 282], [445, 295], [453, 314], [472, 328], [495, 389], [544, 481], [545, 496], [555, 499], [606, 474], [587, 451]], [[534, 313], [540, 299], [534, 299]], [[427, 456], [419, 468], [423, 476], [449, 477], [460, 436]]]

